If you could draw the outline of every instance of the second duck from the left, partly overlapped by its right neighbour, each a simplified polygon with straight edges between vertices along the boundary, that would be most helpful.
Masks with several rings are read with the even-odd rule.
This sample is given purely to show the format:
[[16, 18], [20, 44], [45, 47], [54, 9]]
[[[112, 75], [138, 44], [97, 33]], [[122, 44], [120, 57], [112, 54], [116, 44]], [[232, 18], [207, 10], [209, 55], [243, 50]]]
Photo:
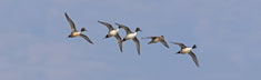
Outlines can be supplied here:
[[104, 24], [109, 29], [109, 32], [107, 33], [107, 36], [104, 38], [116, 37], [116, 39], [118, 40], [120, 51], [122, 52], [122, 40], [121, 40], [120, 34], [118, 33], [119, 30], [122, 27], [119, 27], [118, 29], [114, 29], [110, 23], [107, 23], [107, 22], [103, 22], [103, 21], [98, 21], [98, 22], [101, 23], [101, 24]]

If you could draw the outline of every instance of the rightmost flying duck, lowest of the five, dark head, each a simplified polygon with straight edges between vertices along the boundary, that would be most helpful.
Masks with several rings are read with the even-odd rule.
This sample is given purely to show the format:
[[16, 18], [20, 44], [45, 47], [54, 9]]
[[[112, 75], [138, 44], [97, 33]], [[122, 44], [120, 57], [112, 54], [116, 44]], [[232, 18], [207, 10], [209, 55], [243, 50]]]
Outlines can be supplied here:
[[194, 44], [192, 48], [190, 48], [190, 47], [187, 47], [187, 46], [184, 46], [183, 43], [180, 43], [180, 42], [171, 42], [171, 43], [178, 44], [178, 46], [181, 48], [181, 50], [178, 51], [177, 53], [181, 53], [181, 54], [189, 53], [190, 57], [193, 59], [195, 66], [197, 66], [198, 68], [200, 67], [195, 54], [193, 53], [193, 51], [191, 51], [192, 49], [195, 49], [195, 48], [197, 48], [195, 44]]

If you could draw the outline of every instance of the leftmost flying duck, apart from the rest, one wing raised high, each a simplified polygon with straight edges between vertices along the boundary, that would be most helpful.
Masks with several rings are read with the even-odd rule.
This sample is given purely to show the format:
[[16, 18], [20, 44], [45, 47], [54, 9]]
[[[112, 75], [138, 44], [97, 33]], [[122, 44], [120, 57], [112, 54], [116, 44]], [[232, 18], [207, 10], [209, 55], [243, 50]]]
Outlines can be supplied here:
[[83, 31], [87, 31], [86, 28], [81, 28], [81, 31], [78, 31], [76, 28], [74, 22], [71, 20], [71, 18], [67, 14], [67, 12], [64, 13], [67, 21], [70, 23], [71, 27], [71, 34], [68, 36], [68, 38], [76, 38], [76, 37], [82, 37], [83, 39], [86, 39], [88, 42], [90, 42], [91, 44], [93, 44], [93, 42], [90, 40], [89, 37], [87, 37], [86, 34], [83, 34]]

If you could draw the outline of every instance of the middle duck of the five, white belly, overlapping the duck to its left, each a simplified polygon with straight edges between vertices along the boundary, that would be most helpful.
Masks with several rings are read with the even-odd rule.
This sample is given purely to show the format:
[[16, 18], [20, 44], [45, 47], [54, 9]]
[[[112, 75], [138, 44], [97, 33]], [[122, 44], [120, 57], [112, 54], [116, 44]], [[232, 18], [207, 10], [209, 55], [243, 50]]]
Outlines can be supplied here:
[[138, 51], [138, 54], [140, 56], [140, 41], [139, 39], [135, 37], [137, 33], [139, 31], [141, 31], [140, 28], [135, 28], [135, 32], [132, 32], [128, 27], [123, 26], [123, 24], [120, 24], [120, 23], [116, 23], [117, 26], [119, 27], [122, 27], [124, 28], [126, 32], [127, 32], [127, 36], [123, 38], [122, 41], [127, 41], [127, 40], [133, 40], [135, 42], [135, 47], [137, 47], [137, 51]]

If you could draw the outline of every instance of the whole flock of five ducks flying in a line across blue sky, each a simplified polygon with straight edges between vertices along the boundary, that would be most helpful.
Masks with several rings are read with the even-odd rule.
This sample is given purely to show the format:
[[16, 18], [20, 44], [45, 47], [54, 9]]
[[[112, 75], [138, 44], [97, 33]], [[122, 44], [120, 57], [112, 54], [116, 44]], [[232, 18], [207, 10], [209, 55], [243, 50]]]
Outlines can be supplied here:
[[[82, 33], [83, 31], [87, 31], [87, 30], [84, 28], [81, 28], [81, 31], [78, 31], [77, 28], [76, 28], [76, 24], [71, 20], [71, 18], [69, 18], [69, 16], [67, 13], [64, 13], [64, 14], [66, 14], [66, 18], [67, 18], [68, 22], [70, 23], [70, 27], [71, 27], [71, 33], [68, 36], [68, 38], [76, 38], [76, 37], [80, 36], [83, 39], [86, 39], [88, 42], [93, 44], [93, 42], [90, 40], [90, 38]], [[140, 28], [137, 28], [135, 31], [132, 32], [128, 27], [126, 27], [123, 24], [120, 24], [120, 23], [116, 23], [117, 26], [119, 26], [116, 29], [110, 23], [102, 22], [102, 21], [98, 21], [98, 22], [103, 24], [103, 26], [106, 26], [109, 29], [109, 32], [107, 33], [106, 38], [114, 37], [118, 40], [118, 44], [119, 44], [119, 48], [120, 48], [121, 52], [122, 52], [122, 42], [127, 41], [127, 40], [133, 40], [135, 42], [135, 46], [137, 46], [138, 54], [140, 56], [140, 41], [135, 37], [137, 33], [139, 31], [141, 31]], [[127, 36], [123, 39], [118, 33], [120, 29], [124, 29], [126, 32], [127, 32]], [[148, 44], [161, 42], [164, 47], [169, 48], [169, 44], [164, 40], [164, 36], [160, 36], [160, 37], [147, 37], [147, 38], [142, 38], [142, 39], [151, 39], [151, 41]], [[171, 43], [178, 44], [181, 48], [180, 51], [178, 51], [177, 53], [179, 53], [179, 54], [188, 53], [193, 59], [195, 66], [199, 67], [198, 59], [197, 59], [195, 54], [191, 51], [192, 49], [197, 48], [195, 44], [193, 47], [187, 47], [187, 46], [184, 46], [183, 43], [180, 43], [180, 42], [171, 42]]]

